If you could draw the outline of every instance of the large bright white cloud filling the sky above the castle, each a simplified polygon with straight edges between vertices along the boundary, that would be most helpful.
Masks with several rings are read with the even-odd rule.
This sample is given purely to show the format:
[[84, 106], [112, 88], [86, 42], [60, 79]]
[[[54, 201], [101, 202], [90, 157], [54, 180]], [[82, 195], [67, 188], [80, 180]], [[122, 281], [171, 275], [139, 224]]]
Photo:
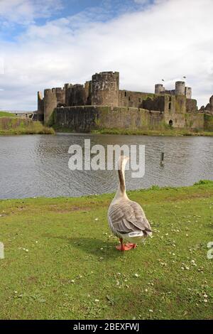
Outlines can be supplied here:
[[[160, 2], [159, 2], [160, 1]], [[187, 77], [193, 97], [213, 94], [213, 1], [158, 0], [106, 23], [92, 12], [29, 26], [16, 43], [1, 43], [0, 108], [36, 109], [36, 92], [118, 70], [121, 89], [153, 92]]]

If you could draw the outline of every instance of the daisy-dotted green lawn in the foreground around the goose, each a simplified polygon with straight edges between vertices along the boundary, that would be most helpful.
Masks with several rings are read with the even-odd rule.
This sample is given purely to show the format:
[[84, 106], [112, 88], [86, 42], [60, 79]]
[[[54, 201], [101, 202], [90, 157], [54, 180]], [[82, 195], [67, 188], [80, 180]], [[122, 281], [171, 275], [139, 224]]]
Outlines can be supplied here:
[[213, 318], [213, 181], [129, 192], [153, 238], [124, 253], [112, 197], [0, 201], [0, 318]]

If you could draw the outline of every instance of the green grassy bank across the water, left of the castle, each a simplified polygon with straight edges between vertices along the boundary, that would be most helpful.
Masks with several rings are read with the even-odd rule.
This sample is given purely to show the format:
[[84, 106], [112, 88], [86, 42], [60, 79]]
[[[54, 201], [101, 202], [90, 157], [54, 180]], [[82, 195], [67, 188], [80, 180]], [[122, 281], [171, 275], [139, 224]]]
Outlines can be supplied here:
[[2, 134], [55, 134], [55, 131], [31, 119], [0, 117], [0, 135]]

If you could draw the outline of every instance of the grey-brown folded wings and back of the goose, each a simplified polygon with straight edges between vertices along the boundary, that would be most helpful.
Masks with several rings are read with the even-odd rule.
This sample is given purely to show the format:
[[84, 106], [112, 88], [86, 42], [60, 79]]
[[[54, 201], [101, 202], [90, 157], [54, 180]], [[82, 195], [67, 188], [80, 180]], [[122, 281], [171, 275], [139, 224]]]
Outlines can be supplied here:
[[109, 219], [114, 230], [121, 234], [141, 231], [145, 235], [151, 233], [151, 226], [141, 205], [132, 200], [122, 200], [111, 205]]

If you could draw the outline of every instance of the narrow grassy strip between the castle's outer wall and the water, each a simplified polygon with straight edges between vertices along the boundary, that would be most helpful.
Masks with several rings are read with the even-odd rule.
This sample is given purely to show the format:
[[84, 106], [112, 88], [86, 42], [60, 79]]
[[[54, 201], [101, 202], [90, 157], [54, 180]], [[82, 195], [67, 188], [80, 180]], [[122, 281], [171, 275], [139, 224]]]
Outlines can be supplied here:
[[93, 134], [137, 134], [144, 136], [213, 136], [213, 131], [192, 129], [161, 129], [161, 130], [128, 130], [128, 129], [100, 129]]

